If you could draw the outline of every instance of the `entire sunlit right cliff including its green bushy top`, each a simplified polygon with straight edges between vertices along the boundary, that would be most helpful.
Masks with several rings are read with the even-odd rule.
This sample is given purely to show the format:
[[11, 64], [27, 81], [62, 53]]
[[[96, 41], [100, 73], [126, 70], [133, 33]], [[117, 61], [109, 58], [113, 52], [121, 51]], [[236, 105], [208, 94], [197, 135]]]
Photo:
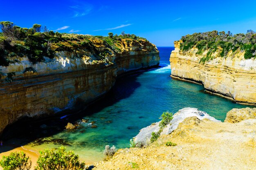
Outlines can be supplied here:
[[254, 35], [240, 36], [213, 31], [175, 41], [171, 76], [200, 83], [208, 92], [235, 102], [256, 105], [256, 45], [245, 38]]

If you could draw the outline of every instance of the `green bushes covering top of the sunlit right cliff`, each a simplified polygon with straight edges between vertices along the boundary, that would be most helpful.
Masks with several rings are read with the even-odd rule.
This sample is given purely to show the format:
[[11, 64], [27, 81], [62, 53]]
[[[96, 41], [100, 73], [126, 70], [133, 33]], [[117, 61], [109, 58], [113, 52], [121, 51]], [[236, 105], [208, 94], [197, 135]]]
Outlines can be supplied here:
[[180, 49], [187, 52], [191, 48], [198, 48], [196, 54], [201, 55], [208, 50], [207, 56], [203, 57], [200, 62], [204, 63], [213, 59], [212, 54], [219, 48], [221, 49], [220, 57], [225, 57], [229, 51], [245, 51], [245, 59], [255, 58], [256, 54], [256, 32], [248, 30], [246, 34], [240, 33], [233, 35], [230, 31], [211, 31], [205, 33], [194, 33], [181, 38]]

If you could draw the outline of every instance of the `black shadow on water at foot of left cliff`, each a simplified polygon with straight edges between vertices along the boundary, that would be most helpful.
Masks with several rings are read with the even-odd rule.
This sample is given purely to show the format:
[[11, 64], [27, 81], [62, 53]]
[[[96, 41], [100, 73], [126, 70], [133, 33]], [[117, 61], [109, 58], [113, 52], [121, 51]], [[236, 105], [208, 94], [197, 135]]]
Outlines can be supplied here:
[[105, 107], [115, 104], [119, 100], [128, 98], [133, 94], [135, 89], [141, 86], [137, 81], [137, 77], [143, 74], [143, 72], [145, 70], [118, 78], [110, 92], [103, 98], [87, 107], [80, 108], [80, 110], [65, 111], [65, 113], [59, 113], [56, 116], [43, 118], [22, 118], [14, 124], [7, 126], [1, 137], [1, 140], [4, 141], [4, 147], [0, 149], [0, 153], [7, 152], [35, 140], [38, 144], [53, 143], [69, 146], [70, 144], [63, 139], [52, 139], [48, 141], [43, 140], [43, 138], [64, 131], [68, 122], [75, 124], [85, 116], [93, 115]]

